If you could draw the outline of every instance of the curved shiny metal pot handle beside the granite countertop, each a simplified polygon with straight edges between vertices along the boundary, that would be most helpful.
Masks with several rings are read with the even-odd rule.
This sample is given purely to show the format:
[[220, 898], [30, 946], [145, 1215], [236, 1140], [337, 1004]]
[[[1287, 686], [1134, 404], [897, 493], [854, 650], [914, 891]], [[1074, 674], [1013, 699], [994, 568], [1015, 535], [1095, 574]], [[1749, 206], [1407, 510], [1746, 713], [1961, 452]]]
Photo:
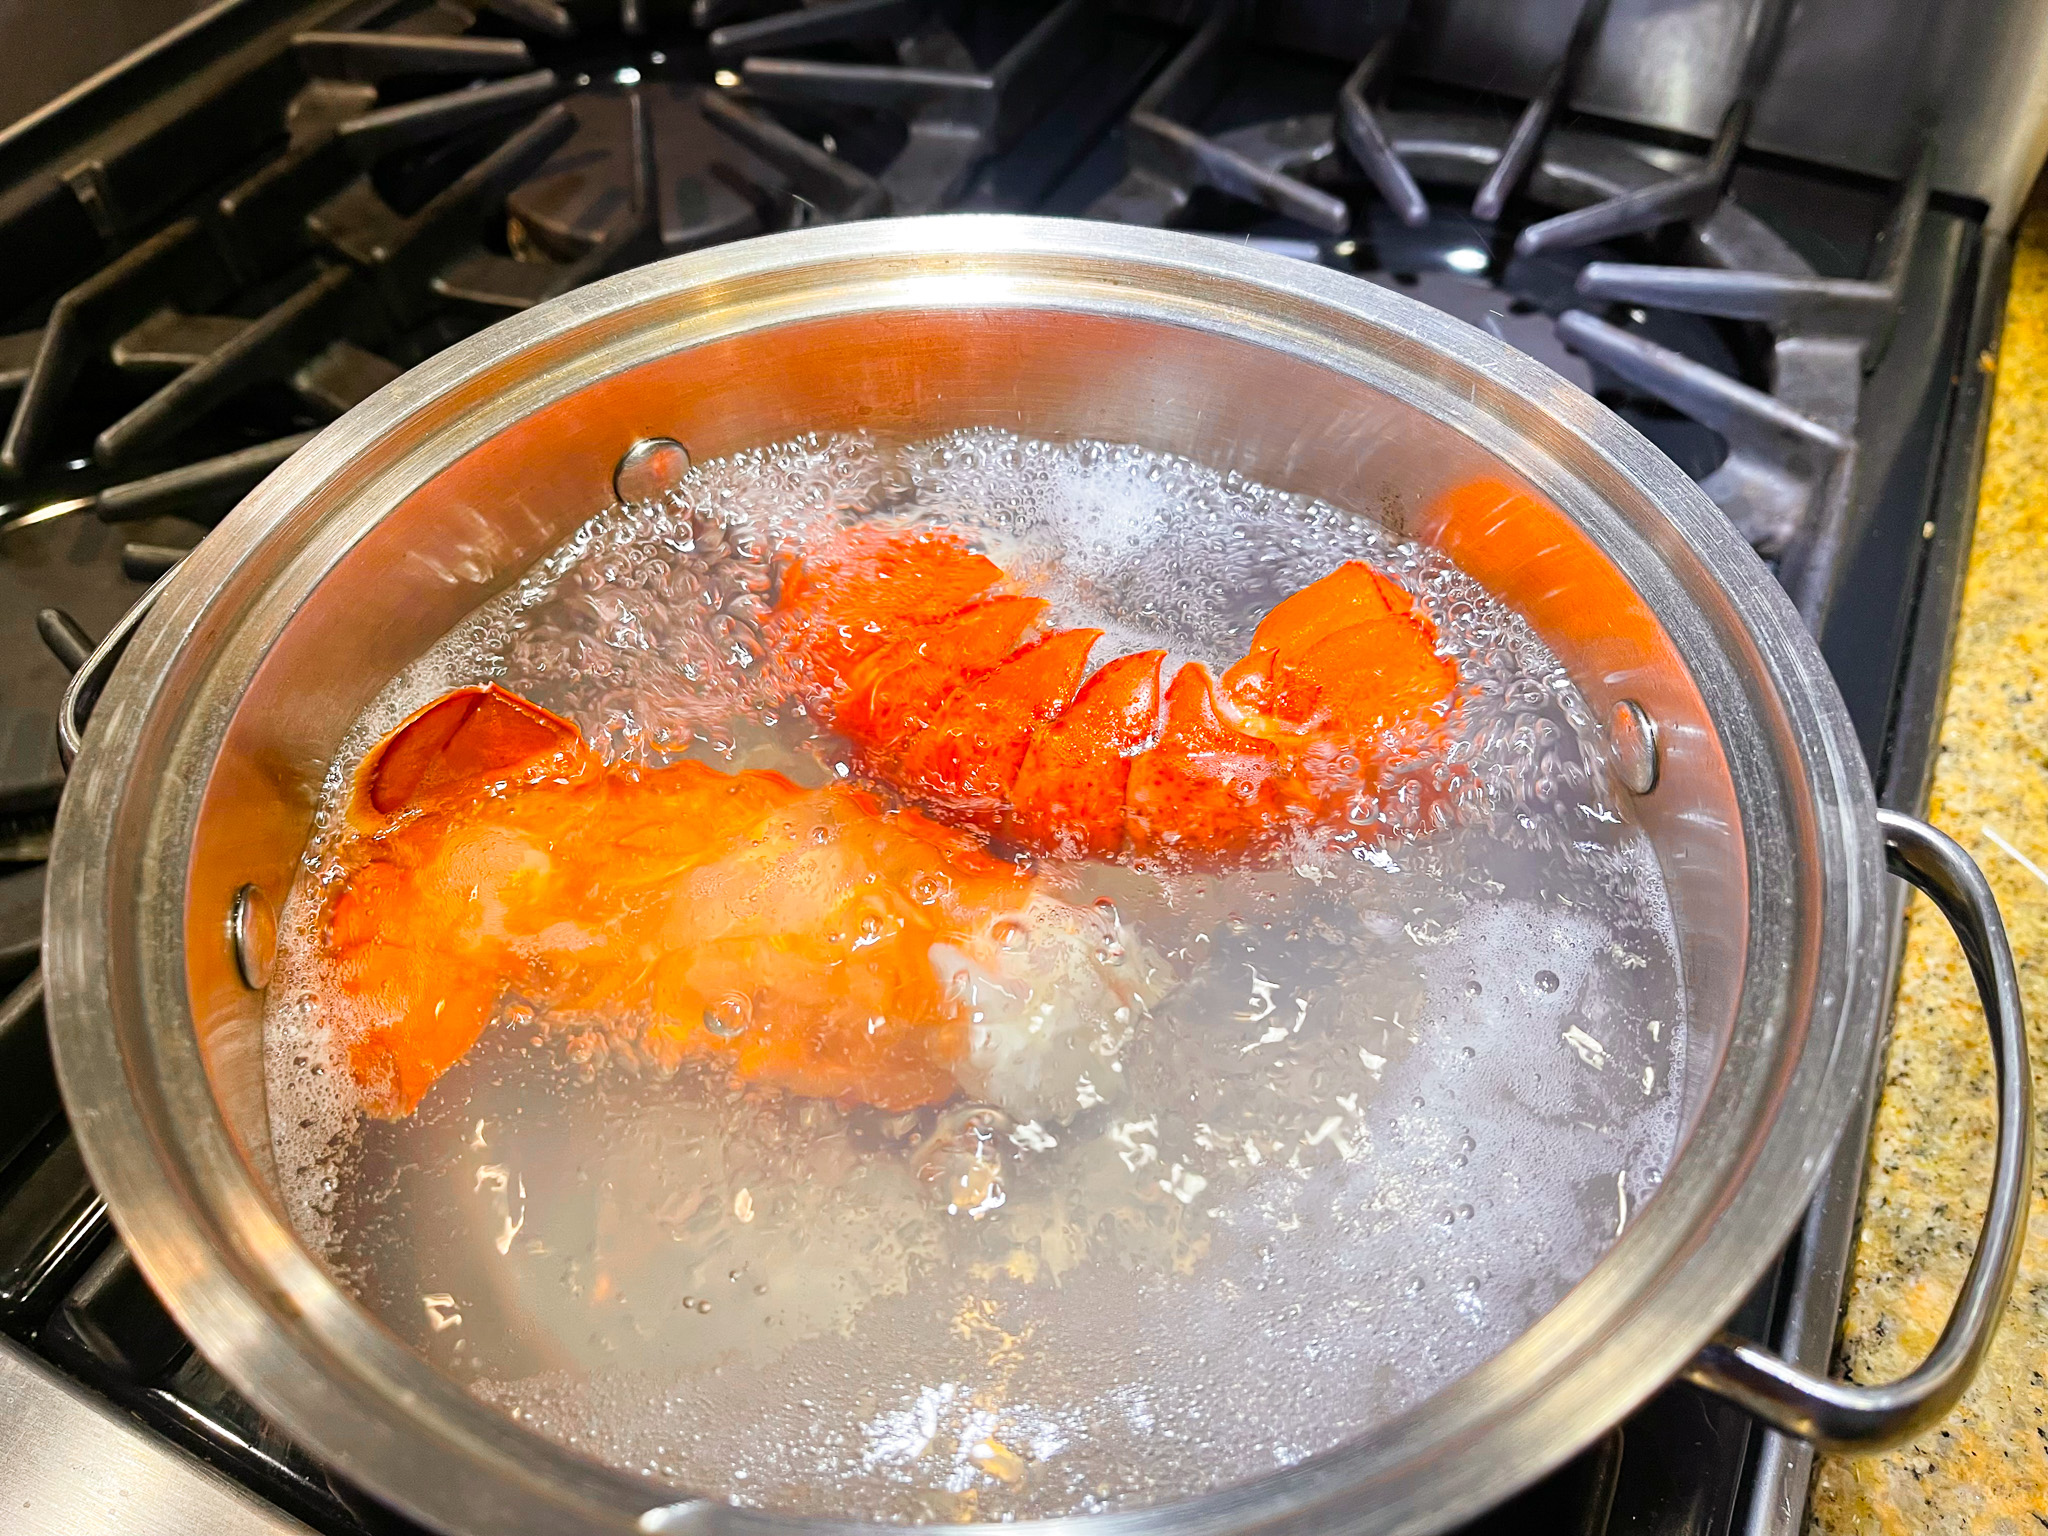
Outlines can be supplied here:
[[1722, 1333], [1692, 1364], [1686, 1380], [1726, 1397], [1788, 1436], [1823, 1450], [1872, 1452], [1911, 1440], [1944, 1417], [1976, 1374], [2019, 1268], [2028, 1196], [2034, 1188], [2034, 1075], [2019, 981], [1991, 885], [1962, 846], [1909, 815], [1878, 811], [1884, 862], [1892, 874], [1933, 897], [1970, 958], [1991, 1028], [1999, 1073], [1997, 1163], [1976, 1255], [1962, 1278], [1956, 1309], [1927, 1358], [1894, 1382], [1812, 1376], [1747, 1339]]

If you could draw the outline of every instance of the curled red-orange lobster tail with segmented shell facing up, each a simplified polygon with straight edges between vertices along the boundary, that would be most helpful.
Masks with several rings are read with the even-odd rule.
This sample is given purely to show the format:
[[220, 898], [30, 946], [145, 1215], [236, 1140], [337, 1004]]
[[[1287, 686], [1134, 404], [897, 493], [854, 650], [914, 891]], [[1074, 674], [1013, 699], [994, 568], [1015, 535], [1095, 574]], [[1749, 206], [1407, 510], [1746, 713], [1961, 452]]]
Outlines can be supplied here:
[[[791, 633], [815, 633], [817, 559], [793, 567], [795, 598], [784, 582]], [[809, 641], [793, 655], [840, 733], [899, 788], [1040, 850], [1180, 860], [1270, 846], [1343, 815], [1374, 786], [1376, 737], [1440, 719], [1458, 682], [1413, 594], [1362, 561], [1278, 602], [1221, 684], [1182, 668], [1161, 721], [1159, 653], [1116, 657], [1083, 684], [1098, 631], [1012, 649], [1044, 604], [981, 598], [995, 567], [965, 541], [856, 526], [821, 559], [889, 573], [831, 578], [831, 633], [864, 637], [858, 659], [821, 662]], [[936, 571], [909, 578], [924, 559]], [[975, 596], [932, 616], [954, 586]], [[862, 606], [870, 592], [887, 610]]]

